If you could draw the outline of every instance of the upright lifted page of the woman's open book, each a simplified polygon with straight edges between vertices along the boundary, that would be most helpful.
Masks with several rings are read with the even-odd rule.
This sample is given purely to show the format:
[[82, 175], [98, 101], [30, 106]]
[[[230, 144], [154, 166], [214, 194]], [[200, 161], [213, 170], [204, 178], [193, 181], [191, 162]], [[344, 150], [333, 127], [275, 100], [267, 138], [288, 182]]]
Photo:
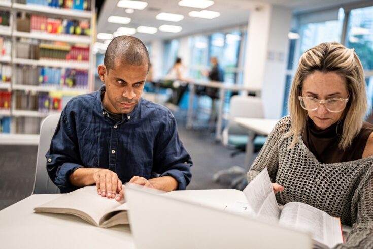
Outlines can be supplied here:
[[265, 220], [278, 222], [280, 208], [272, 189], [267, 168], [263, 169], [244, 189], [250, 208], [256, 216]]

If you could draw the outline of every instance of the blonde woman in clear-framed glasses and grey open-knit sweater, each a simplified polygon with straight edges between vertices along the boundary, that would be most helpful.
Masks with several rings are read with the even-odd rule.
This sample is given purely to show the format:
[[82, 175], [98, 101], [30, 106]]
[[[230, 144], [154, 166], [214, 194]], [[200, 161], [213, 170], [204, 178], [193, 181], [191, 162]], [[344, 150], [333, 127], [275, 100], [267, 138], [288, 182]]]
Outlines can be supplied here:
[[353, 49], [322, 43], [300, 58], [290, 116], [268, 136], [247, 178], [265, 167], [280, 204], [307, 203], [353, 226], [337, 248], [373, 248], [373, 126]]

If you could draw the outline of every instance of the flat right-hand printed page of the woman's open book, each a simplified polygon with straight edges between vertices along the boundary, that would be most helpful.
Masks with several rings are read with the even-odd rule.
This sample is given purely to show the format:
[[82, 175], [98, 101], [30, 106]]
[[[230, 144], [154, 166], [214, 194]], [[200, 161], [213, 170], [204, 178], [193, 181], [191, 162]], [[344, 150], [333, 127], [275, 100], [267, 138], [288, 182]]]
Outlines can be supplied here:
[[287, 203], [282, 210], [279, 223], [307, 231], [316, 242], [329, 248], [343, 243], [339, 219], [304, 203]]

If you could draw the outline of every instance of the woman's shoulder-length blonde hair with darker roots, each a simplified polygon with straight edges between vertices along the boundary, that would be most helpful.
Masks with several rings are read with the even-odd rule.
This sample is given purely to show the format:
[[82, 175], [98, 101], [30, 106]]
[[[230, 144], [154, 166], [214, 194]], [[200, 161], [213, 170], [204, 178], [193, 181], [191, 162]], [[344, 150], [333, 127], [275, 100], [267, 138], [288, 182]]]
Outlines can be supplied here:
[[367, 97], [364, 70], [353, 49], [346, 48], [337, 42], [326, 42], [304, 52], [299, 59], [289, 95], [289, 112], [292, 124], [285, 137], [291, 137], [291, 147], [295, 145], [300, 132], [306, 123], [307, 111], [299, 103], [298, 96], [304, 79], [315, 71], [323, 73], [335, 72], [346, 79], [350, 97], [342, 118], [343, 132], [338, 146], [345, 150], [360, 132], [363, 118], [367, 110]]

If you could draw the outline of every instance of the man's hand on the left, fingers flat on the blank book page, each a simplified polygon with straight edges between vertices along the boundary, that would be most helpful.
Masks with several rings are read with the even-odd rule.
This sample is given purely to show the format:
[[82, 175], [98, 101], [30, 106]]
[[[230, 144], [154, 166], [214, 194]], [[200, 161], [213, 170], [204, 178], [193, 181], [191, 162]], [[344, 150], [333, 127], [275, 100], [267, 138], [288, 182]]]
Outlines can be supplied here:
[[103, 197], [114, 198], [122, 190], [122, 182], [118, 175], [108, 169], [99, 169], [93, 174], [97, 193]]

